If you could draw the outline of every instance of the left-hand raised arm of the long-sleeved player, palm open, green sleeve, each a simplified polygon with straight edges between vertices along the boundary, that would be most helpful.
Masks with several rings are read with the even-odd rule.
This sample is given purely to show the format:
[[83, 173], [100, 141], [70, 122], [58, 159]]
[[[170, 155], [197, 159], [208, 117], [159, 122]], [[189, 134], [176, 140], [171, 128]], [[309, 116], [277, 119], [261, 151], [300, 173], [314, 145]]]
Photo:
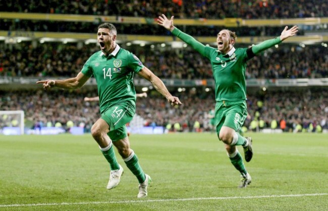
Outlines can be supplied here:
[[196, 51], [198, 51], [200, 54], [205, 56], [205, 45], [198, 42], [195, 38], [193, 38], [189, 34], [186, 34], [180, 31], [178, 28], [174, 27], [173, 20], [174, 20], [174, 16], [168, 19], [165, 15], [162, 15], [158, 17], [157, 24], [171, 31], [173, 35], [179, 37], [182, 41], [184, 41], [192, 48], [194, 48]]

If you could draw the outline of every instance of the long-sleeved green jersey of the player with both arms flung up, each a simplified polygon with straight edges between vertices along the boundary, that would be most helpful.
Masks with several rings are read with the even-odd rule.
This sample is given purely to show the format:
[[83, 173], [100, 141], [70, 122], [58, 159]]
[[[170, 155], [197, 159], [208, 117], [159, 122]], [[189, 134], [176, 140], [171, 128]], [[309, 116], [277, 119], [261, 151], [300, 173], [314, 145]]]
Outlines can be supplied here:
[[177, 28], [172, 31], [172, 34], [210, 60], [215, 81], [216, 102], [246, 100], [245, 73], [247, 61], [256, 53], [281, 42], [280, 38], [276, 38], [254, 46], [255, 50], [250, 48], [235, 49], [233, 47], [227, 54], [223, 54], [217, 48], [205, 46]]

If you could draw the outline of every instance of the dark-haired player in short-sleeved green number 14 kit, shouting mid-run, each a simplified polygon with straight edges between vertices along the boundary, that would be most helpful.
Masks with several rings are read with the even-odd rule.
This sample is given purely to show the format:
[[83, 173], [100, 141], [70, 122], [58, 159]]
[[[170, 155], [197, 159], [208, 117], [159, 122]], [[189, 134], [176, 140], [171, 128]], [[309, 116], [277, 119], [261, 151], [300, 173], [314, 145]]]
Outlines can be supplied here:
[[137, 197], [140, 198], [147, 196], [147, 186], [151, 178], [142, 170], [137, 155], [130, 148], [127, 136], [126, 123], [130, 122], [135, 114], [134, 74], [150, 81], [172, 106], [182, 103], [179, 98], [170, 94], [163, 82], [145, 67], [136, 55], [121, 48], [116, 43], [116, 39], [117, 30], [113, 24], [100, 24], [97, 32], [100, 51], [89, 57], [75, 78], [38, 81], [37, 84], [42, 84], [46, 90], [53, 87], [77, 89], [81, 88], [91, 76], [95, 78], [101, 117], [92, 125], [91, 134], [110, 164], [111, 175], [107, 189], [115, 188], [123, 174], [123, 168], [115, 156], [114, 144], [127, 167], [138, 179]]

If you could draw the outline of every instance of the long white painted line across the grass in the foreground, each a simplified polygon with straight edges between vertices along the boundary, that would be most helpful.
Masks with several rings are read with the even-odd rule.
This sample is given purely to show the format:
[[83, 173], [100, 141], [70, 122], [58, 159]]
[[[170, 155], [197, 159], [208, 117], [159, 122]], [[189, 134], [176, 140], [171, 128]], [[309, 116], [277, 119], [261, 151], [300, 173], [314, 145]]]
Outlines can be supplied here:
[[86, 202], [62, 202], [62, 203], [32, 203], [32, 204], [0, 204], [0, 207], [19, 206], [51, 206], [51, 205], [85, 205], [85, 204], [111, 204], [111, 203], [144, 203], [144, 202], [167, 202], [167, 201], [192, 201], [192, 200], [224, 200], [224, 199], [245, 199], [245, 198], [278, 198], [278, 197], [302, 197], [328, 195], [328, 193], [309, 193], [295, 195], [259, 195], [259, 196], [231, 196], [231, 197], [208, 197], [208, 198], [171, 198], [171, 199], [150, 199], [150, 200], [126, 200], [126, 201], [86, 201]]

